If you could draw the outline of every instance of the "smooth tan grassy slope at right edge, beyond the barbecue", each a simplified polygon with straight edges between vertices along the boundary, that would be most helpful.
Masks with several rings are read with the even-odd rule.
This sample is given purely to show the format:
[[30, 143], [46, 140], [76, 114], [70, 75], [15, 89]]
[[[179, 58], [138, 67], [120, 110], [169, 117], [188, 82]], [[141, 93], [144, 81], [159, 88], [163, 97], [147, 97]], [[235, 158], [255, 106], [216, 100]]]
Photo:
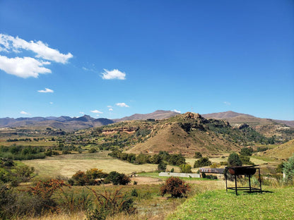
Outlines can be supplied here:
[[268, 149], [266, 152], [260, 152], [259, 154], [275, 159], [288, 159], [294, 154], [294, 139], [284, 143], [283, 145], [275, 147], [274, 149]]

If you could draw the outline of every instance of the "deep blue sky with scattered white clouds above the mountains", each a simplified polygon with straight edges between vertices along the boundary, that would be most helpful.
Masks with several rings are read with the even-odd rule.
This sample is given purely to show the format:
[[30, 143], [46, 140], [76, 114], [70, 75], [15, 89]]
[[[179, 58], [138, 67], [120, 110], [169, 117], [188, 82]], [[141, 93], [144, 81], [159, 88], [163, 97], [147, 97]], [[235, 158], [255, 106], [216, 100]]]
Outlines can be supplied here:
[[294, 1], [0, 1], [0, 117], [294, 120]]

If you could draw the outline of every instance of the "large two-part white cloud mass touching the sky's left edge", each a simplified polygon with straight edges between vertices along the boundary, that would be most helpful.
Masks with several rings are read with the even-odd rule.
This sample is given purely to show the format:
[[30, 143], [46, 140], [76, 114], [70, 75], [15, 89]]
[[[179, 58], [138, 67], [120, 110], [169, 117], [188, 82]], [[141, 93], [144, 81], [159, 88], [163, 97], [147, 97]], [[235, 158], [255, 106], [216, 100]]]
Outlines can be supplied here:
[[37, 78], [39, 74], [51, 73], [49, 68], [44, 67], [51, 64], [49, 61], [66, 63], [73, 57], [71, 53], [61, 54], [57, 49], [52, 49], [41, 41], [27, 42], [19, 37], [0, 34], [0, 52], [20, 54], [23, 50], [33, 51], [36, 54], [35, 58], [28, 56], [8, 58], [0, 55], [0, 69], [20, 78]]

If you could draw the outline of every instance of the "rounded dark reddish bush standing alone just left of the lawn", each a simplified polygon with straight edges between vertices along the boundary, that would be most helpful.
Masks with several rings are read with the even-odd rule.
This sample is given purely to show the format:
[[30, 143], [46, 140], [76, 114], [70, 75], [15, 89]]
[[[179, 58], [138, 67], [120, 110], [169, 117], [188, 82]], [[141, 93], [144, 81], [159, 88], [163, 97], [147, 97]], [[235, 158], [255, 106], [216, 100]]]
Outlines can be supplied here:
[[189, 190], [191, 190], [191, 188], [187, 183], [178, 177], [171, 176], [170, 178], [167, 178], [165, 184], [161, 186], [160, 194], [164, 196], [165, 194], [170, 193], [172, 197], [177, 198], [186, 195]]

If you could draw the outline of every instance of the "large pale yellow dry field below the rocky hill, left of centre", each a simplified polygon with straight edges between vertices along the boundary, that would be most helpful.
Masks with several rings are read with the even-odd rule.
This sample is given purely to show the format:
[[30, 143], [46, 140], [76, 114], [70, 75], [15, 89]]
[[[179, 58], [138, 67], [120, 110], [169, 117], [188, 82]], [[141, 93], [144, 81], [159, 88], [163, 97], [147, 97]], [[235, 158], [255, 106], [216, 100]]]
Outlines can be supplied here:
[[106, 173], [117, 171], [119, 173], [129, 174], [132, 172], [155, 171], [156, 164], [135, 165], [119, 159], [113, 159], [107, 156], [107, 152], [98, 152], [95, 154], [66, 154], [56, 157], [46, 157], [45, 159], [34, 159], [23, 161], [28, 166], [33, 166], [35, 172], [40, 177], [65, 176], [71, 178], [76, 171], [86, 171], [88, 169], [102, 169]]

